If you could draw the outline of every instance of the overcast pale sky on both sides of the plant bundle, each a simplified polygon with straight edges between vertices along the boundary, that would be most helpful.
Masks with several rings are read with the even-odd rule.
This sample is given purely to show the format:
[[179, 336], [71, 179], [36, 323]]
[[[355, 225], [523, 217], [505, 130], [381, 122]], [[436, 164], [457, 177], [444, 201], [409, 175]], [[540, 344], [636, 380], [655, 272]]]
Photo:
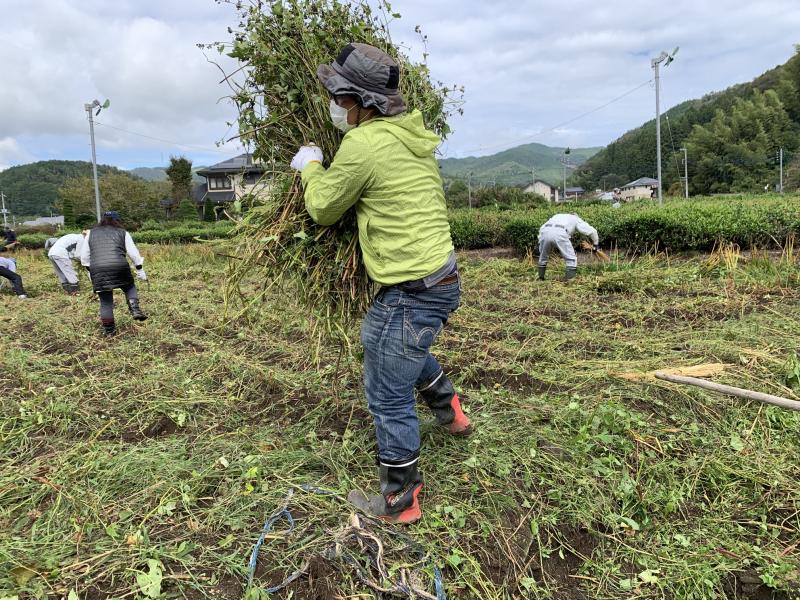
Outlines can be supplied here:
[[[403, 16], [392, 24], [395, 41], [420, 56], [413, 29], [421, 25], [433, 76], [466, 87], [446, 156], [528, 142], [605, 145], [653, 118], [649, 59], [661, 50], [681, 48], [663, 72], [662, 107], [670, 107], [748, 81], [800, 42], [798, 0], [395, 0], [393, 8]], [[232, 7], [0, 0], [0, 14], [0, 169], [90, 159], [83, 105], [95, 98], [111, 99], [97, 117], [98, 162], [158, 166], [184, 154], [201, 165], [241, 151], [215, 145], [235, 114], [196, 46], [230, 37]]]

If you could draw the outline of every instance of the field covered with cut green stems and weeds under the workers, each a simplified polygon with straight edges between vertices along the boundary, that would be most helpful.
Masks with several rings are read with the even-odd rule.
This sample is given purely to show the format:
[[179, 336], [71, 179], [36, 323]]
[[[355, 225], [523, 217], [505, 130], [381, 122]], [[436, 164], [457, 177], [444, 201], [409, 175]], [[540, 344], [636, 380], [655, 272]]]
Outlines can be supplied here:
[[437, 351], [477, 431], [420, 409], [423, 520], [400, 536], [348, 529], [341, 496], [377, 486], [357, 350], [315, 363], [291, 293], [226, 321], [213, 246], [142, 250], [151, 318], [118, 297], [111, 340], [39, 252], [33, 298], [0, 293], [0, 597], [241, 598], [287, 504], [250, 598], [292, 574], [270, 598], [435, 598], [434, 566], [448, 598], [800, 598], [799, 414], [618, 377], [719, 362], [797, 399], [793, 257], [581, 256], [567, 284], [462, 254]]

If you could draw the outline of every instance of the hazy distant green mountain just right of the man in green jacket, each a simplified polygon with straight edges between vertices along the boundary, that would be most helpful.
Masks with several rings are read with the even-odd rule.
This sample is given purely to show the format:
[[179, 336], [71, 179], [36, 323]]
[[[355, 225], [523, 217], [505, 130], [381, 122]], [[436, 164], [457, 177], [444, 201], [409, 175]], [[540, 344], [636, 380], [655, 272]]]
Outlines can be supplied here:
[[[440, 160], [439, 165], [445, 179], [466, 181], [472, 172], [472, 183], [475, 185], [525, 185], [531, 182], [534, 170], [536, 179], [558, 185], [562, 180], [560, 160], [565, 150], [543, 144], [525, 144], [491, 156], [446, 158]], [[581, 165], [598, 150], [600, 148], [573, 148], [567, 155], [569, 164]]]

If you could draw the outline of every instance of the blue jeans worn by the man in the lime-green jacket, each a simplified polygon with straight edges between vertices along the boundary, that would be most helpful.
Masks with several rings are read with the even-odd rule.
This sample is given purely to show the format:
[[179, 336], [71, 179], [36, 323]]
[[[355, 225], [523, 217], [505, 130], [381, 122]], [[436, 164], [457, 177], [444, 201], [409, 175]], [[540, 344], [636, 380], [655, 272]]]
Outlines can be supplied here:
[[460, 278], [417, 292], [392, 286], [378, 293], [364, 317], [364, 388], [381, 462], [419, 455], [414, 387], [441, 370], [430, 348], [460, 296]]

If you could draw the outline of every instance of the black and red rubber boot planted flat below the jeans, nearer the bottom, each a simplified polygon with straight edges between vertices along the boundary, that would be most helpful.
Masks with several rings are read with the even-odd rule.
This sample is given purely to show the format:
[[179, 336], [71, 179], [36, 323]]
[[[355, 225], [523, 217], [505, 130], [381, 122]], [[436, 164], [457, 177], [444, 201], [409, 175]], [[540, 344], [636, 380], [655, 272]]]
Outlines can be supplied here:
[[361, 512], [390, 523], [413, 523], [422, 517], [419, 492], [422, 475], [417, 469], [419, 457], [402, 466], [380, 464], [381, 493], [367, 496], [353, 490], [347, 500]]

